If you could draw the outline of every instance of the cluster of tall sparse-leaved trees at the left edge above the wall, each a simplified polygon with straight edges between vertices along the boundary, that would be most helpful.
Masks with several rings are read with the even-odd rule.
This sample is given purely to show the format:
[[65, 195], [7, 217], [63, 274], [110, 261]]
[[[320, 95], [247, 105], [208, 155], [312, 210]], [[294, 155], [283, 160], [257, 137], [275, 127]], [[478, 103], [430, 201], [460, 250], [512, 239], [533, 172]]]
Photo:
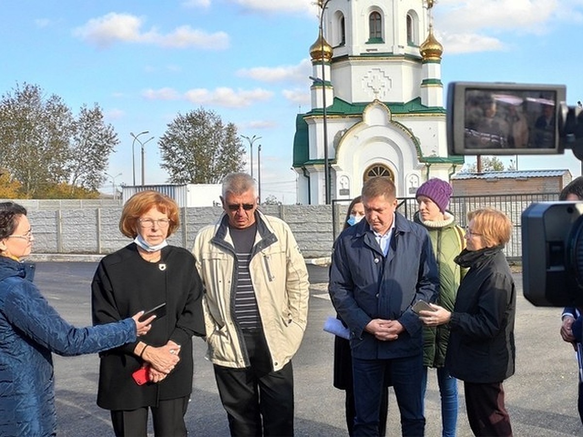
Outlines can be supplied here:
[[75, 118], [61, 97], [26, 83], [0, 100], [0, 163], [23, 198], [52, 198], [67, 186], [69, 196], [93, 196], [118, 143], [97, 104]]

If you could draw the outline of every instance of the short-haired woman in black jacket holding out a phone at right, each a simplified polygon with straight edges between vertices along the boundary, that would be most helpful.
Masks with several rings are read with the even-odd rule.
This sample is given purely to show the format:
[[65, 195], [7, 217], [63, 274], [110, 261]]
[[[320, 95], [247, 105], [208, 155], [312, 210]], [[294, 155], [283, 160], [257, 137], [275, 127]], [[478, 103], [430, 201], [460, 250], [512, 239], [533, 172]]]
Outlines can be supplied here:
[[454, 311], [431, 305], [421, 311], [428, 326], [449, 323], [445, 365], [463, 380], [470, 428], [477, 436], [511, 436], [504, 406], [504, 379], [514, 374], [516, 290], [502, 252], [512, 223], [490, 208], [468, 214], [466, 249], [455, 259], [469, 267], [459, 286]]

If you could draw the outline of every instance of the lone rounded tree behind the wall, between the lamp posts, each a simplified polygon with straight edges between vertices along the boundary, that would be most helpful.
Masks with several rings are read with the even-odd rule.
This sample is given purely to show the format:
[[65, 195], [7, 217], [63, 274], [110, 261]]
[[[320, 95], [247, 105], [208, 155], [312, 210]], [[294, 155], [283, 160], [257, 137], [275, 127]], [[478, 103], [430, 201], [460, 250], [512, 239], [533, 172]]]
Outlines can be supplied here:
[[233, 123], [203, 108], [178, 116], [159, 141], [162, 164], [173, 184], [217, 184], [243, 170], [244, 147]]

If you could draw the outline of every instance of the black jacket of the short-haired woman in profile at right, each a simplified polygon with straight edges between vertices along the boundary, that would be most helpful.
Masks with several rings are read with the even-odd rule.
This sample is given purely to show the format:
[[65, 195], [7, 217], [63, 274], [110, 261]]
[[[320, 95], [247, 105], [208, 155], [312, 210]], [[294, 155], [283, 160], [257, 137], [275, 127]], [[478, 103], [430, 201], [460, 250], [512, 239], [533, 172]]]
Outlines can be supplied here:
[[464, 250], [469, 267], [459, 286], [449, 326], [445, 365], [455, 378], [496, 383], [514, 374], [516, 290], [501, 246]]

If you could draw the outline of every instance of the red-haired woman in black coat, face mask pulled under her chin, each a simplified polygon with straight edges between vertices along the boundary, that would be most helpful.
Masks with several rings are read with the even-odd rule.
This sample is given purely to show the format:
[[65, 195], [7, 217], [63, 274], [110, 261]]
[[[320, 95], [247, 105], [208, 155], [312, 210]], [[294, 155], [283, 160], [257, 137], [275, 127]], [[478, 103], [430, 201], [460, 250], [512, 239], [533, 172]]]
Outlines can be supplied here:
[[[205, 329], [194, 258], [166, 242], [177, 228], [174, 200], [155, 191], [136, 193], [120, 220], [122, 234], [134, 242], [103, 258], [93, 279], [96, 325], [166, 304], [141, 341], [101, 354], [97, 405], [111, 410], [116, 436], [146, 436], [150, 409], [156, 436], [187, 435], [192, 336]], [[149, 382], [138, 385], [132, 374], [142, 368]]]

